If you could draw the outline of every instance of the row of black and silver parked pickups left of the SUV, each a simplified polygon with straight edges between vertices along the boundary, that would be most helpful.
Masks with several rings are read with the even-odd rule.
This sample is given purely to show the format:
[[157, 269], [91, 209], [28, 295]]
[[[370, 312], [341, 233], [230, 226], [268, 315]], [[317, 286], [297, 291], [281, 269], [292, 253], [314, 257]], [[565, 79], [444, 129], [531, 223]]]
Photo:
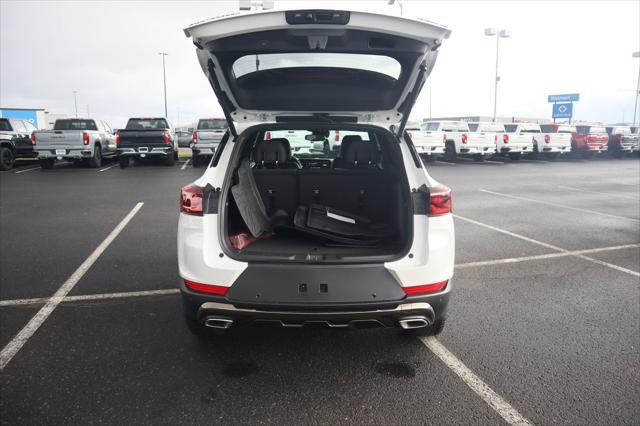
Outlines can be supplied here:
[[[224, 119], [199, 120], [190, 142], [195, 167], [214, 154], [226, 129]], [[0, 170], [11, 169], [17, 158], [37, 158], [43, 169], [50, 169], [62, 160], [101, 167], [109, 158], [125, 168], [132, 159], [146, 157], [160, 158], [168, 166], [178, 159], [178, 138], [166, 118], [130, 118], [119, 130], [93, 118], [59, 119], [52, 130], [0, 118]]]

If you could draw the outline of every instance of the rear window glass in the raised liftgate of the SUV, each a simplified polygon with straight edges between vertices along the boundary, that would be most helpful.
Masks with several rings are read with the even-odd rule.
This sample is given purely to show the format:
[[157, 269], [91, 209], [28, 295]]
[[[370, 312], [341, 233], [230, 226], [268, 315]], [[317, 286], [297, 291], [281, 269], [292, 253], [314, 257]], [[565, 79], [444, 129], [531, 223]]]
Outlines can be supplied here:
[[400, 77], [401, 68], [398, 61], [388, 56], [314, 52], [242, 56], [233, 63], [232, 70], [233, 75], [239, 78], [256, 71], [301, 67], [365, 70], [384, 74], [396, 80]]

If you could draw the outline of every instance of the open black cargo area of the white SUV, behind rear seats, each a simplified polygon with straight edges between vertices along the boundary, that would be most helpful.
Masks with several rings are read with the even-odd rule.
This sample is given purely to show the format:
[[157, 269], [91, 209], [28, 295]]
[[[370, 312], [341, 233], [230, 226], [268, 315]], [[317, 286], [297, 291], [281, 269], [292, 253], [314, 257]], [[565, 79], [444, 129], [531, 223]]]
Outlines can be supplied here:
[[287, 139], [258, 137], [227, 194], [228, 246], [243, 260], [373, 261], [402, 254], [411, 242], [412, 205], [401, 156], [394, 141], [371, 136], [345, 137], [335, 158], [316, 153], [302, 161]]

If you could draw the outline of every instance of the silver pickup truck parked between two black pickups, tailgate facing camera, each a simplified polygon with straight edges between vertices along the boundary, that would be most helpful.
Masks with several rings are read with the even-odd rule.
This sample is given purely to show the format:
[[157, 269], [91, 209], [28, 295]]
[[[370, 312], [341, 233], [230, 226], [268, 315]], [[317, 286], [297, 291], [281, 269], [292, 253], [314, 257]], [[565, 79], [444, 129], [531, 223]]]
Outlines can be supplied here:
[[93, 118], [58, 119], [53, 130], [33, 132], [32, 141], [43, 169], [52, 168], [56, 160], [83, 161], [90, 167], [100, 167], [103, 158], [117, 154], [113, 130]]

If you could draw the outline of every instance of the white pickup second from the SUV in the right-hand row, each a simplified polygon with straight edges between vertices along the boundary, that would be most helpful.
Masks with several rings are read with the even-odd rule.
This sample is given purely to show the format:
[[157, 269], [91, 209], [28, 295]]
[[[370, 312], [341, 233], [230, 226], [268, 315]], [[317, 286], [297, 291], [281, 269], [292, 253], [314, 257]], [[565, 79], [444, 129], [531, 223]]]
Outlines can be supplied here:
[[456, 161], [459, 156], [484, 161], [496, 153], [495, 135], [471, 133], [468, 123], [463, 121], [427, 121], [422, 128], [445, 133], [444, 157], [448, 161]]

